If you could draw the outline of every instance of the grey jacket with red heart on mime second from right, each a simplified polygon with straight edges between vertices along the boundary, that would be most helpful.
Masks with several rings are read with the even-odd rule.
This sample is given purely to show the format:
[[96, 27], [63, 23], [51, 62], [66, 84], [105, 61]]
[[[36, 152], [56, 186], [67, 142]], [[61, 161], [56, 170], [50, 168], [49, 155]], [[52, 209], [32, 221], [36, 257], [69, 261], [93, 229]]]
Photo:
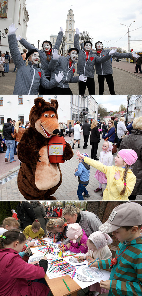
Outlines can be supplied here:
[[112, 56], [106, 54], [104, 57], [99, 57], [98, 55], [94, 55], [92, 50], [89, 51], [88, 60], [86, 61], [86, 51], [84, 48], [84, 44], [82, 46], [82, 50], [79, 46], [79, 35], [75, 34], [74, 36], [74, 46], [79, 50], [78, 54], [78, 63], [77, 63], [77, 73], [82, 74], [84, 73], [84, 76], [94, 78], [95, 74], [95, 63], [104, 63], [107, 60], [109, 60]]

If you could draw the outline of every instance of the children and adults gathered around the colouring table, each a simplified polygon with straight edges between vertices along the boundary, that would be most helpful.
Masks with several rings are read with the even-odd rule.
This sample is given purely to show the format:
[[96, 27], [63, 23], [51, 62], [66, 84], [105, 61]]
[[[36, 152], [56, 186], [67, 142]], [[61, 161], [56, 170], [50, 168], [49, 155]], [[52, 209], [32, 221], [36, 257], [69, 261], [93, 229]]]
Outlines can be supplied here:
[[[21, 206], [27, 209], [26, 217], [19, 215]], [[116, 287], [117, 294], [140, 295], [142, 207], [139, 203], [119, 204], [103, 224], [94, 213], [81, 211], [74, 205], [66, 205], [62, 218], [49, 220], [46, 233], [41, 228], [32, 206], [28, 205], [28, 202], [20, 202], [17, 206], [18, 214], [16, 213], [19, 220], [6, 217], [0, 227], [0, 280], [3, 296], [50, 295], [50, 289], [44, 279], [49, 264], [48, 254], [44, 254], [40, 261], [27, 263], [32, 255], [29, 249], [35, 244], [32, 239], [42, 239], [45, 236], [58, 243], [61, 251], [76, 253], [78, 264], [86, 259], [88, 267], [95, 266], [110, 271], [109, 279], [89, 285], [85, 296], [97, 296], [99, 293], [115, 296]], [[25, 225], [22, 224], [21, 217], [24, 218]], [[113, 259], [110, 247], [113, 240], [109, 236], [110, 233], [119, 242]], [[119, 259], [116, 259], [118, 256]]]

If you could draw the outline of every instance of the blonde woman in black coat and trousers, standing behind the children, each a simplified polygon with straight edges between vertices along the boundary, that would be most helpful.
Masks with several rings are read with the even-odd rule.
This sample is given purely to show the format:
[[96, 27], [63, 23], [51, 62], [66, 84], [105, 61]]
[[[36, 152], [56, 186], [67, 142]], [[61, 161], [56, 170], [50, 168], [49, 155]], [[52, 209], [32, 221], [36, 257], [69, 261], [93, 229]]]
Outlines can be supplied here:
[[98, 122], [96, 120], [92, 121], [92, 123], [91, 123], [91, 137], [90, 137], [90, 141], [91, 141], [91, 145], [92, 145], [91, 158], [95, 159], [95, 160], [98, 160], [97, 150], [98, 150], [98, 143], [100, 142], [100, 134], [98, 132], [97, 124], [98, 124]]

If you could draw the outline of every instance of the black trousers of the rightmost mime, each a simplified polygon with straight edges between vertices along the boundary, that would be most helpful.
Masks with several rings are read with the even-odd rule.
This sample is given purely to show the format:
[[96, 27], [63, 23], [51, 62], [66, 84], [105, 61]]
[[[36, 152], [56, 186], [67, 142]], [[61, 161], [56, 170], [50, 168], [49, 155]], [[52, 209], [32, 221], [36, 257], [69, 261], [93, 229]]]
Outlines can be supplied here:
[[108, 75], [98, 75], [98, 86], [99, 86], [99, 95], [104, 94], [104, 82], [108, 84], [109, 92], [111, 95], [115, 95], [115, 90], [114, 90], [114, 81], [113, 81], [113, 76], [112, 74]]

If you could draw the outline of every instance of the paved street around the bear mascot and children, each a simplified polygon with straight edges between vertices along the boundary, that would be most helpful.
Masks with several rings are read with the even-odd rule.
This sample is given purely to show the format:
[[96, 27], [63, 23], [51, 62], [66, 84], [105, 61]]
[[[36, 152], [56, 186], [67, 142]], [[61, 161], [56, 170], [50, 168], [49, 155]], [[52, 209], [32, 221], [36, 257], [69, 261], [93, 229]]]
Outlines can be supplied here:
[[[81, 133], [82, 134], [82, 133]], [[71, 136], [71, 139], [69, 139], [69, 136], [65, 136], [65, 140], [69, 143], [73, 142], [73, 135]], [[102, 151], [102, 143], [104, 140], [102, 139], [101, 135], [101, 141], [98, 146], [98, 153], [97, 153], [97, 158], [99, 158], [99, 154]], [[88, 147], [86, 150], [82, 150], [83, 148], [83, 135], [81, 135], [81, 140], [80, 140], [80, 146], [79, 151], [81, 153], [86, 152], [91, 156], [91, 145], [90, 141], [88, 141]], [[60, 164], [60, 169], [62, 172], [62, 177], [63, 181], [60, 187], [56, 190], [54, 196], [56, 197], [57, 200], [78, 200], [78, 197], [76, 195], [77, 192], [77, 187], [78, 187], [78, 177], [74, 176], [75, 168], [78, 167], [78, 160], [76, 159], [75, 152], [77, 150], [77, 143], [74, 146], [74, 156], [71, 160], [65, 161], [65, 163]], [[114, 155], [114, 157], [116, 154]], [[1, 163], [1, 174], [0, 174], [0, 182], [3, 180], [5, 177], [10, 176], [12, 173], [18, 173], [19, 170], [19, 160], [17, 155], [15, 155], [15, 159], [17, 160], [15, 163], [6, 163], [4, 161], [5, 155], [0, 154], [0, 163]], [[113, 161], [114, 164], [114, 161]], [[89, 200], [102, 200], [102, 197], [100, 194], [102, 192], [95, 193], [94, 189], [98, 187], [98, 181], [94, 178], [96, 169], [91, 167], [90, 169], [90, 181], [87, 186], [87, 190], [89, 192], [90, 197], [85, 198], [84, 200], [89, 201]], [[102, 185], [102, 188], [104, 189], [104, 185]], [[18, 190], [17, 186], [17, 176], [12, 178], [10, 181], [6, 182], [3, 185], [0, 185], [0, 200], [24, 200], [24, 197], [21, 195], [21, 193]], [[142, 200], [142, 195], [137, 195], [136, 200]]]

